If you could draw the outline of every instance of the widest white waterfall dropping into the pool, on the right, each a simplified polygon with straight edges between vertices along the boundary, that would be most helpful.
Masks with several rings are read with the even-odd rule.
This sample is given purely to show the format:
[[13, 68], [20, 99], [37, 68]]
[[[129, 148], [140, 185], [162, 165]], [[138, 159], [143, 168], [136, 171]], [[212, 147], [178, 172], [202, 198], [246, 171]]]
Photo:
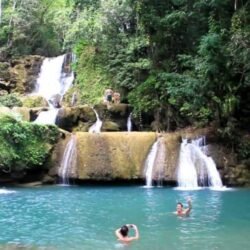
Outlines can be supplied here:
[[180, 148], [177, 180], [180, 188], [197, 189], [209, 186], [222, 188], [222, 181], [213, 159], [207, 156], [205, 137], [183, 140]]

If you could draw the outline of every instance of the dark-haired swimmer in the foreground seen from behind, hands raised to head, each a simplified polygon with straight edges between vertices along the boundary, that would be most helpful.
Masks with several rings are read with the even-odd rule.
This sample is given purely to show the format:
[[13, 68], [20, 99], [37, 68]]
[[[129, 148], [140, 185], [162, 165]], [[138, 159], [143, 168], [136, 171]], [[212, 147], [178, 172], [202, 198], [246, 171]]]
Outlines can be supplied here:
[[[128, 236], [129, 229], [134, 229], [135, 236]], [[115, 230], [115, 235], [117, 237], [117, 240], [119, 240], [122, 243], [130, 243], [133, 240], [139, 239], [139, 231], [136, 225], [134, 224], [126, 224], [118, 229]]]

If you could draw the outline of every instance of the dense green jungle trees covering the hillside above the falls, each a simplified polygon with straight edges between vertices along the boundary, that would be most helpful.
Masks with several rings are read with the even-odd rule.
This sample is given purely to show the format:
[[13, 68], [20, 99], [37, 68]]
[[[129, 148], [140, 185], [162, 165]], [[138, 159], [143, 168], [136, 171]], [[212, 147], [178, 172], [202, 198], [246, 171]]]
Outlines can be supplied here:
[[81, 102], [97, 103], [112, 87], [138, 113], [164, 120], [164, 130], [248, 127], [250, 1], [0, 3], [0, 60], [73, 51]]

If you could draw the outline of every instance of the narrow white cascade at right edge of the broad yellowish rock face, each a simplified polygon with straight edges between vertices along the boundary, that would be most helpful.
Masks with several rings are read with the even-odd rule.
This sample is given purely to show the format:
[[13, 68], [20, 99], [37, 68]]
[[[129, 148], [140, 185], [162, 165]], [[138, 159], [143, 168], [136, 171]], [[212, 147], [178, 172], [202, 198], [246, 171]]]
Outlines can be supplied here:
[[152, 148], [150, 149], [150, 152], [147, 156], [147, 159], [145, 161], [144, 165], [144, 173], [146, 177], [146, 187], [152, 187], [153, 183], [153, 169], [155, 165], [155, 159], [157, 155], [158, 150], [158, 140], [154, 142]]

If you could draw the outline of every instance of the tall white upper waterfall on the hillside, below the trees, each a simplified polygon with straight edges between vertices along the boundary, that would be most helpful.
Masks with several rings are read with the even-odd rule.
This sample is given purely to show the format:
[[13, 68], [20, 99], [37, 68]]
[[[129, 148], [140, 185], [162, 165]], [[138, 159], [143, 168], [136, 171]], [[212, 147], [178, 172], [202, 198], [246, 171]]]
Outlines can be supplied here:
[[36, 90], [33, 94], [43, 96], [48, 104], [49, 111], [43, 111], [39, 114], [35, 123], [55, 124], [60, 102], [63, 95], [71, 87], [74, 74], [63, 72], [63, 64], [66, 55], [55, 58], [46, 58], [43, 61], [40, 74], [36, 83]]

